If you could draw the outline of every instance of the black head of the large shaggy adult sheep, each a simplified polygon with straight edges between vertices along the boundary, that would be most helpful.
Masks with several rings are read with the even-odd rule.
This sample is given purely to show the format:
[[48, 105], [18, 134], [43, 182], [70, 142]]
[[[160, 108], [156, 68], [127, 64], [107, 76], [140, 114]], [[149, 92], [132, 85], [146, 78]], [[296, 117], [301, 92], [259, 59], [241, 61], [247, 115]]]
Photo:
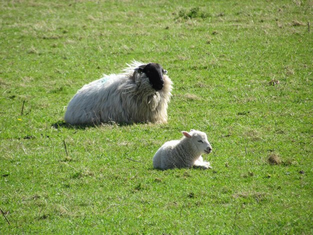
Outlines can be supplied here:
[[134, 73], [145, 73], [145, 75], [149, 78], [151, 86], [155, 90], [160, 90], [164, 86], [163, 74], [166, 74], [167, 71], [162, 68], [162, 66], [158, 63], [148, 63], [142, 64], [134, 69]]

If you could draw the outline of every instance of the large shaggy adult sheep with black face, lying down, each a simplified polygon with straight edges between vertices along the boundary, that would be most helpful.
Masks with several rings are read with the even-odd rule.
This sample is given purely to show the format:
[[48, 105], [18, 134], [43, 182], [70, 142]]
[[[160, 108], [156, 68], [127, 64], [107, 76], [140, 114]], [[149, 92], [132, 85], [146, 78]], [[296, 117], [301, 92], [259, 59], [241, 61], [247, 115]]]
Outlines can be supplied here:
[[158, 63], [133, 61], [119, 74], [84, 85], [67, 105], [69, 124], [167, 121], [172, 82]]

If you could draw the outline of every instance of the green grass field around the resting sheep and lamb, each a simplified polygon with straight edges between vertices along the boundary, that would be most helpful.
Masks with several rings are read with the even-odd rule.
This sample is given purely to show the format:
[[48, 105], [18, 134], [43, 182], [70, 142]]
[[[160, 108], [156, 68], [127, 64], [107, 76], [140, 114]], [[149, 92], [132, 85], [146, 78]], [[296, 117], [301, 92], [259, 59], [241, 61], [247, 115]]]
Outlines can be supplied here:
[[[309, 0], [0, 0], [0, 234], [313, 233], [312, 12]], [[62, 122], [77, 89], [132, 59], [168, 70], [167, 124]], [[153, 169], [191, 128], [213, 169]]]

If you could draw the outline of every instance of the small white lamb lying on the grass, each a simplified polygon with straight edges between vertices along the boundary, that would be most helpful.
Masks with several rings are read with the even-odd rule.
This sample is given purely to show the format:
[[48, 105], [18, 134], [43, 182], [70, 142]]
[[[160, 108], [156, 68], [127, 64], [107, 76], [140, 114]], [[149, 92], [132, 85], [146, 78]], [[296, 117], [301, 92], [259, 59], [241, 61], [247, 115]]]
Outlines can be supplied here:
[[208, 169], [210, 163], [203, 161], [201, 154], [210, 153], [212, 147], [204, 132], [191, 129], [181, 131], [180, 140], [165, 142], [153, 156], [153, 167], [157, 169], [191, 167]]

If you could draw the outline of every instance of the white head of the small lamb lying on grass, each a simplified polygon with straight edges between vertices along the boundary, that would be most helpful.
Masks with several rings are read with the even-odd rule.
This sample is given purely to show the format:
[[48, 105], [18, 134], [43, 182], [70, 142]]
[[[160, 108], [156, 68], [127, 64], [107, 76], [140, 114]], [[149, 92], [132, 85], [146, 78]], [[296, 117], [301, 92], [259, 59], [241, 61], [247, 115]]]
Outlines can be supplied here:
[[181, 131], [181, 133], [187, 137], [191, 138], [191, 141], [193, 145], [196, 146], [196, 148], [201, 152], [201, 154], [204, 153], [210, 153], [212, 151], [211, 144], [207, 141], [207, 135], [206, 133], [191, 129], [190, 132], [187, 131]]

